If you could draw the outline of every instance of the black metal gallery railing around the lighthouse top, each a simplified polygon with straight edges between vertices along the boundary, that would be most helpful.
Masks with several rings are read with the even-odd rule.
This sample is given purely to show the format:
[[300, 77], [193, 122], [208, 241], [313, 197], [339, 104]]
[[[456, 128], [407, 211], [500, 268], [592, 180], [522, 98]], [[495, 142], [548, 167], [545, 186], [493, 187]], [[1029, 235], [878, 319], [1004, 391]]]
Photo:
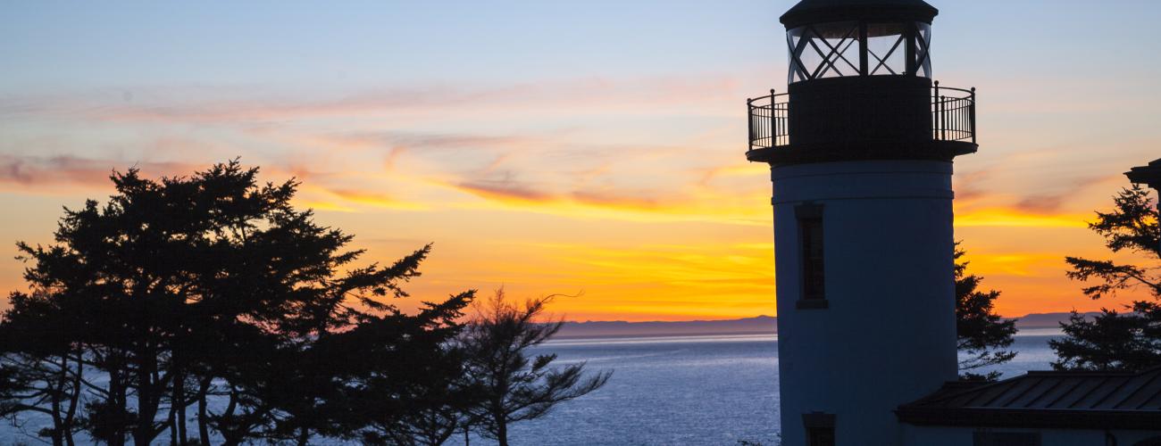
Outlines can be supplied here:
[[[786, 93], [747, 101], [750, 116], [750, 149], [791, 145], [792, 102]], [[924, 130], [925, 133], [925, 130]], [[931, 140], [975, 144], [975, 88], [940, 87], [931, 94]]]

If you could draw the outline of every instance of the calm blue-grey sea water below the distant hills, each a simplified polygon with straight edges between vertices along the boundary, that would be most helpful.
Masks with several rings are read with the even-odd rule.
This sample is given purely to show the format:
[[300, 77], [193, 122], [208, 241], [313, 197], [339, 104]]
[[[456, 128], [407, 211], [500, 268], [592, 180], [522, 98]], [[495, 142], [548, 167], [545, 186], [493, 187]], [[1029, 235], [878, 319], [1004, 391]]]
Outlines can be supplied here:
[[[1047, 370], [1057, 330], [1025, 330], [1019, 354], [998, 370], [1007, 376]], [[538, 353], [556, 364], [586, 363], [613, 371], [601, 389], [565, 402], [548, 416], [511, 427], [513, 445], [738, 445], [777, 444], [778, 338], [773, 335], [557, 339]], [[46, 419], [23, 426], [0, 422], [0, 445], [38, 444]], [[79, 438], [81, 439], [81, 438]], [[462, 445], [454, 437], [449, 445]], [[471, 438], [471, 445], [491, 441]], [[318, 441], [339, 445], [339, 441]]]

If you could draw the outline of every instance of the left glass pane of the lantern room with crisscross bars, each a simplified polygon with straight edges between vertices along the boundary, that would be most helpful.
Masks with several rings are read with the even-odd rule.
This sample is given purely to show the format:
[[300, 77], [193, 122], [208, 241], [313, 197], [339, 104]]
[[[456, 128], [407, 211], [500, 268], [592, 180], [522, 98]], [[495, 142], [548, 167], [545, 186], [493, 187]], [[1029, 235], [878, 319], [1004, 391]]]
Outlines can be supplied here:
[[789, 82], [859, 75], [858, 22], [820, 23], [787, 31]]

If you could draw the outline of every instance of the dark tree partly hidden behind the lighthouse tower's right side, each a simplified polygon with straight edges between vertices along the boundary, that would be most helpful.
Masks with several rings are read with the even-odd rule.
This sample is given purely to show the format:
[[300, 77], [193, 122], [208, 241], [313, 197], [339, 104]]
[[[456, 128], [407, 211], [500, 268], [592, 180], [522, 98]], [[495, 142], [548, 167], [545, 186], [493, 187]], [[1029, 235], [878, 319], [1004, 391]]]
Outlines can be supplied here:
[[972, 373], [973, 370], [995, 366], [1012, 360], [1011, 346], [1016, 335], [1016, 320], [1005, 320], [995, 313], [1000, 292], [980, 291], [983, 278], [967, 273], [968, 262], [959, 262], [964, 250], [956, 248], [956, 334], [957, 346], [967, 358], [959, 361], [962, 380], [996, 380], [1000, 372]]

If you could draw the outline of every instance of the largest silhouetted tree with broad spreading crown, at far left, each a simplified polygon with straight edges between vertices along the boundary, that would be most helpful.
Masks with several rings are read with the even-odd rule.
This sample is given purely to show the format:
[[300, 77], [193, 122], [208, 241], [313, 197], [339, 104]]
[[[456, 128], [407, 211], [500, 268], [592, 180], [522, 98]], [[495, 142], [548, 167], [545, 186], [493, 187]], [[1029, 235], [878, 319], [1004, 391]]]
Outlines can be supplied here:
[[[346, 248], [351, 235], [290, 204], [296, 182], [262, 185], [257, 175], [237, 161], [159, 181], [115, 173], [107, 204], [65, 210], [55, 244], [20, 243], [31, 263], [27, 282], [51, 292], [34, 295], [44, 302], [14, 294], [20, 312], [0, 328], [63, 320], [68, 330], [50, 330], [29, 359], [20, 359], [19, 345], [0, 345], [13, 365], [0, 368], [0, 386], [39, 382], [17, 372], [64, 356], [71, 381], [52, 382], [65, 382], [57, 387], [66, 397], [84, 387], [84, 416], [62, 419], [53, 432], [77, 422], [101, 443], [147, 445], [168, 431], [183, 445], [193, 437], [187, 408], [196, 407], [201, 444], [211, 431], [226, 444], [307, 444], [317, 434], [354, 437], [366, 425], [358, 404], [378, 394], [351, 382], [391, 367], [441, 367], [426, 361], [457, 335], [450, 321], [471, 294], [428, 304], [418, 316], [389, 302], [406, 297], [399, 286], [419, 275], [431, 247], [385, 268], [355, 268], [363, 251]], [[405, 351], [392, 357], [398, 363], [367, 360], [397, 348]], [[85, 368], [107, 379], [81, 379]], [[406, 378], [392, 375], [411, 392], [394, 396], [399, 404], [426, 392]], [[215, 397], [226, 407], [212, 410]], [[0, 399], [5, 408], [19, 407], [15, 400], [55, 404], [13, 392]]]

